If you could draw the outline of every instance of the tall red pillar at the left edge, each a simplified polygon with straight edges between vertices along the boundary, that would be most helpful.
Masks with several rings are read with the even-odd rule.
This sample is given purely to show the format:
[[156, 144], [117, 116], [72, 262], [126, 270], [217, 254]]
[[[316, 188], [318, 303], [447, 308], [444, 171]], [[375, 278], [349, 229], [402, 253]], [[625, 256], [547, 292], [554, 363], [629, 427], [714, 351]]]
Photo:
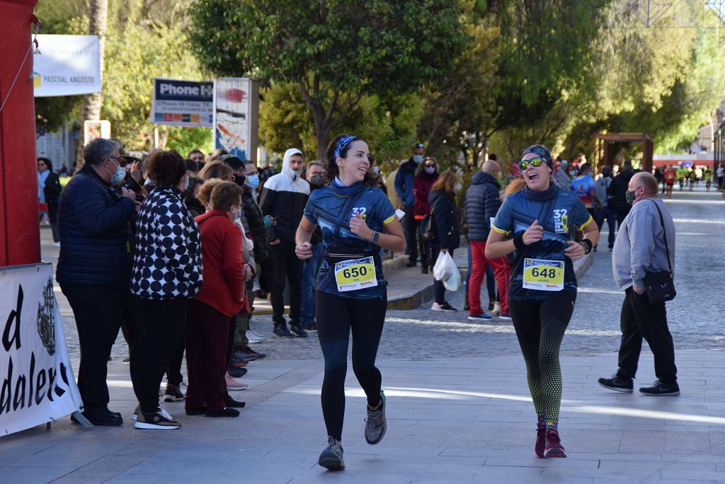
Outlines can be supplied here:
[[0, 0], [0, 267], [41, 260], [30, 48], [36, 1]]

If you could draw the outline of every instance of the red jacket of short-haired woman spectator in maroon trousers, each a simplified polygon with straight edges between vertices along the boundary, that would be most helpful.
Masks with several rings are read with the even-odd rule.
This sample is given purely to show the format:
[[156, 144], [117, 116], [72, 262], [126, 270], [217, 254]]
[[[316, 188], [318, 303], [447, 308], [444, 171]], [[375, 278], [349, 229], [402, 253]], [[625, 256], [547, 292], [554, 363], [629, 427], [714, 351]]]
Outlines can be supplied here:
[[194, 220], [202, 233], [204, 266], [204, 284], [196, 300], [232, 317], [244, 303], [241, 231], [221, 210], [211, 210]]

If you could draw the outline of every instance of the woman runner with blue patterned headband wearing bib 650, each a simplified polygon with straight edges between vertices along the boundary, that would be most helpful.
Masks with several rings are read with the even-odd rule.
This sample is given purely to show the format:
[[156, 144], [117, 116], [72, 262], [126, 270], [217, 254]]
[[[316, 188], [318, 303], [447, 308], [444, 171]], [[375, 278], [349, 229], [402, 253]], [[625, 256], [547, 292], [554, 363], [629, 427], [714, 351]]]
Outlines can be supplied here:
[[342, 420], [345, 412], [347, 342], [352, 330], [352, 371], [368, 397], [365, 441], [385, 435], [385, 395], [375, 366], [387, 309], [381, 247], [405, 251], [403, 231], [395, 209], [370, 171], [368, 143], [339, 135], [326, 151], [328, 185], [315, 190], [297, 228], [294, 251], [310, 259], [310, 238], [320, 226], [325, 257], [315, 283], [315, 319], [325, 358], [322, 412], [328, 447], [319, 463], [329, 470], [345, 468], [342, 459]]

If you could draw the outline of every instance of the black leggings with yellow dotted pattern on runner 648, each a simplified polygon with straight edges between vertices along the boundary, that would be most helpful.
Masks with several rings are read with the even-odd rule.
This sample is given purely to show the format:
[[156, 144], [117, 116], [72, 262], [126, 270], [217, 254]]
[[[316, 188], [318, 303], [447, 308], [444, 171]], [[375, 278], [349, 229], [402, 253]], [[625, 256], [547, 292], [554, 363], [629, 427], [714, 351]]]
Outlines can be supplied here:
[[561, 367], [559, 348], [571, 320], [575, 291], [551, 293], [543, 301], [509, 300], [511, 319], [526, 362], [526, 380], [537, 415], [559, 421]]

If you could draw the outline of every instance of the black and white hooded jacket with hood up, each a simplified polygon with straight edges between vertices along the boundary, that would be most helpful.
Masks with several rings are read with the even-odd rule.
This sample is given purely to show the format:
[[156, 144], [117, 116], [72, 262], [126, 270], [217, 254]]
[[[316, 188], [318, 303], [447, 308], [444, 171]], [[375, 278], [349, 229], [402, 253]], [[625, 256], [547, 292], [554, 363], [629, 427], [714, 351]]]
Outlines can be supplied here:
[[260, 197], [262, 213], [275, 218], [277, 237], [288, 242], [294, 242], [294, 234], [310, 197], [310, 183], [289, 167], [293, 154], [302, 154], [302, 151], [297, 148], [285, 151], [282, 172], [265, 182]]

